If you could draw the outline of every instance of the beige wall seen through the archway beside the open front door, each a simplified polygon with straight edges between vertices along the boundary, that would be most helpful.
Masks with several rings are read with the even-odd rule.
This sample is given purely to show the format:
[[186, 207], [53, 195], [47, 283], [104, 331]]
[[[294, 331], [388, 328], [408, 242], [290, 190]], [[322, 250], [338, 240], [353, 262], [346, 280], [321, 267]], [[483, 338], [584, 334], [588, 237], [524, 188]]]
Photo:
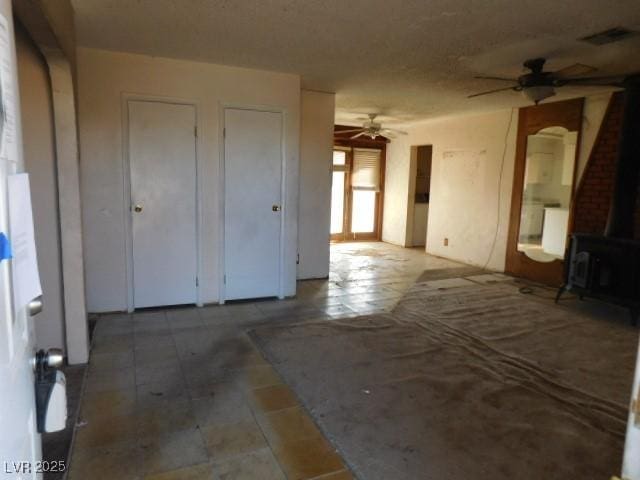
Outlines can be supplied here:
[[64, 348], [58, 188], [49, 71], [39, 50], [16, 28], [25, 169], [31, 180], [44, 309], [35, 317], [38, 348]]

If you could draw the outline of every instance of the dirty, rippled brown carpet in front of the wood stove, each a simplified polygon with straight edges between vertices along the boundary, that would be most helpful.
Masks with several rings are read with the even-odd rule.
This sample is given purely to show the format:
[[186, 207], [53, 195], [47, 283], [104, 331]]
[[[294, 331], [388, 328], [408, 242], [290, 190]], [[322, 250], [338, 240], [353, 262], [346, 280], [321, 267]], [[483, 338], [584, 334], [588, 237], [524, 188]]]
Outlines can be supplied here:
[[508, 282], [251, 332], [362, 480], [619, 472], [637, 331]]

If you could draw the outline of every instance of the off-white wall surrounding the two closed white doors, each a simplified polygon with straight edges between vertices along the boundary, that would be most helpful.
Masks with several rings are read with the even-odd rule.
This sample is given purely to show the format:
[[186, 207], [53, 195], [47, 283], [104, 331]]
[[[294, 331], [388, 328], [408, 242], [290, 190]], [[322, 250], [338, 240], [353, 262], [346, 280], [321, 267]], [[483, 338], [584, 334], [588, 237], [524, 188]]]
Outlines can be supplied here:
[[[221, 107], [270, 106], [285, 113], [285, 294], [295, 294], [300, 79], [206, 63], [79, 48], [81, 184], [87, 302], [90, 311], [127, 307], [122, 99], [127, 93], [194, 102], [201, 187], [200, 295], [218, 300], [221, 216]], [[127, 205], [125, 205], [127, 204]]]

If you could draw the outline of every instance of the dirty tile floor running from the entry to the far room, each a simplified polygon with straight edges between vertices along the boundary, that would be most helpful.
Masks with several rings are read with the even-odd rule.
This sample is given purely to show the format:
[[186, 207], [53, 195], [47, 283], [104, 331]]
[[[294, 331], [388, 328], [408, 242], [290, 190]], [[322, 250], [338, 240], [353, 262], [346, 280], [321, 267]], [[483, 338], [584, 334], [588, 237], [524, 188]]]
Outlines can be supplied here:
[[391, 309], [425, 269], [383, 243], [336, 244], [295, 299], [98, 317], [70, 480], [353, 478], [245, 332]]

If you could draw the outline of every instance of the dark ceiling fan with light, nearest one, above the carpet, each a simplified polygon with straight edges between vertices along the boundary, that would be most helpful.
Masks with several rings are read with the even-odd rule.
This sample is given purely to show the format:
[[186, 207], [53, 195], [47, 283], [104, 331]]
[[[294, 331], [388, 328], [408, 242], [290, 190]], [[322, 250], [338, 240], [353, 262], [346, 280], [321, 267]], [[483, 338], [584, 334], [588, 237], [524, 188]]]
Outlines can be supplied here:
[[489, 95], [491, 93], [503, 92], [506, 90], [513, 90], [516, 92], [522, 92], [525, 97], [534, 102], [536, 105], [542, 100], [552, 97], [556, 94], [556, 88], [564, 87], [565, 85], [577, 85], [577, 86], [612, 86], [623, 87], [624, 76], [609, 76], [609, 77], [581, 77], [596, 70], [594, 67], [588, 65], [582, 65], [576, 63], [569, 67], [557, 70], [555, 72], [545, 72], [544, 64], [546, 59], [544, 58], [532, 58], [523, 63], [524, 68], [530, 70], [529, 73], [520, 75], [518, 78], [503, 78], [503, 77], [491, 77], [491, 76], [478, 76], [475, 78], [482, 80], [498, 80], [504, 82], [513, 82], [515, 85], [503, 88], [497, 88], [495, 90], [489, 90], [488, 92], [475, 93], [469, 95], [467, 98], [479, 97], [481, 95]]

